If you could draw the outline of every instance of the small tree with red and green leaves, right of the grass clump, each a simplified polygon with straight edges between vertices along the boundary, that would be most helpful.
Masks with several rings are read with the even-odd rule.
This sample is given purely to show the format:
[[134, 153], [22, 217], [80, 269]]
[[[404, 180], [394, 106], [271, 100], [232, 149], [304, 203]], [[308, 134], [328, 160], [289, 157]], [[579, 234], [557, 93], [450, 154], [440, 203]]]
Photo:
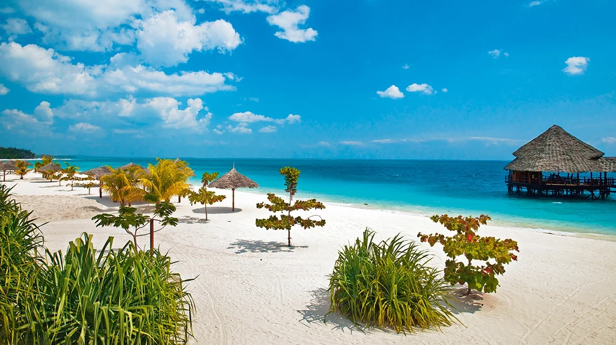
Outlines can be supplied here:
[[[417, 235], [421, 242], [428, 242], [431, 246], [434, 246], [436, 242], [442, 244], [443, 251], [451, 258], [445, 261], [444, 279], [452, 285], [468, 284], [468, 290], [464, 295], [469, 295], [473, 288], [487, 293], [495, 292], [498, 287], [498, 279], [495, 276], [505, 273], [505, 264], [509, 264], [511, 260], [517, 261], [517, 256], [513, 253], [514, 250], [519, 252], [517, 242], [512, 239], [500, 240], [495, 237], [477, 235], [476, 231], [479, 226], [492, 220], [487, 215], [475, 218], [434, 215], [430, 219], [455, 232], [453, 236], [448, 237], [438, 233], [424, 235], [420, 232]], [[467, 264], [457, 260], [461, 255], [468, 260]], [[490, 259], [496, 262], [490, 263], [488, 261]], [[485, 261], [485, 266], [475, 266], [472, 260]]]

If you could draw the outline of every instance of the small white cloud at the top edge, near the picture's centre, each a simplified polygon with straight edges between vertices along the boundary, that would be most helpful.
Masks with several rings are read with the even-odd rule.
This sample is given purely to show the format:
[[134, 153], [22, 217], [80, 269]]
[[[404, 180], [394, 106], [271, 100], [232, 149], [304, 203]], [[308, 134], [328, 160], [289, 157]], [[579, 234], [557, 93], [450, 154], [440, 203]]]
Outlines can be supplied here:
[[291, 42], [314, 41], [317, 31], [312, 28], [300, 29], [299, 25], [306, 23], [310, 15], [310, 7], [306, 5], [298, 6], [295, 10], [285, 10], [279, 14], [267, 17], [270, 25], [276, 25], [283, 31], [277, 31], [275, 36]]

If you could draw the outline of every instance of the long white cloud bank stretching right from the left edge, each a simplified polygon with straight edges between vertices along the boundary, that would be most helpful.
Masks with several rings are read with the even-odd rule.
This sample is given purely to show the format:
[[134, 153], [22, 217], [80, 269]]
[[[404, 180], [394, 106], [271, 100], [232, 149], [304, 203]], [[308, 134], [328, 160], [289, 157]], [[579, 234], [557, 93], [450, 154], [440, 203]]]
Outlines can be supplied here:
[[[195, 96], [219, 90], [235, 90], [226, 85], [230, 74], [206, 71], [166, 74], [143, 65], [117, 65], [130, 60], [115, 55], [111, 65], [86, 66], [53, 49], [15, 42], [0, 44], [0, 74], [19, 82], [31, 92], [96, 97], [118, 92], [148, 92], [156, 95]], [[235, 76], [233, 76], [235, 78]]]

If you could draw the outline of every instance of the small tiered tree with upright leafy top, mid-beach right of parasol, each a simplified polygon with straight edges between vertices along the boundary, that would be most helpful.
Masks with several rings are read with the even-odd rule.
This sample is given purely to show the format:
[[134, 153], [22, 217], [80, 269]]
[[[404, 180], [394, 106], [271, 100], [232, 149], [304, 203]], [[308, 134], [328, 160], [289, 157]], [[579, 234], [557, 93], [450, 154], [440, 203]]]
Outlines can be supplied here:
[[[299, 224], [304, 229], [314, 228], [315, 226], [325, 226], [325, 220], [323, 218], [320, 218], [320, 216], [320, 220], [311, 220], [310, 218], [312, 216], [308, 218], [302, 218], [301, 216], [293, 217], [291, 216], [291, 211], [308, 211], [312, 210], [313, 208], [323, 210], [323, 208], [325, 208], [325, 205], [323, 205], [322, 202], [317, 201], [317, 199], [310, 199], [305, 201], [295, 200], [295, 203], [291, 205], [291, 199], [293, 198], [293, 195], [298, 191], [297, 188], [300, 170], [292, 167], [283, 167], [282, 169], [278, 170], [278, 172], [280, 172], [280, 175], [285, 176], [285, 192], [289, 193], [289, 202], [285, 202], [282, 197], [277, 197], [273, 193], [268, 193], [267, 200], [269, 200], [271, 204], [259, 202], [259, 204], [257, 204], [257, 208], [267, 208], [268, 210], [270, 210], [270, 212], [274, 212], [274, 215], [271, 215], [269, 216], [269, 218], [265, 219], [257, 219], [256, 225], [259, 228], [265, 228], [268, 230], [286, 229], [286, 231], [288, 232], [288, 245], [289, 247], [291, 247], [291, 228], [293, 228], [294, 225]], [[278, 218], [278, 216], [275, 215], [276, 212], [282, 212], [283, 214], [280, 215], [280, 218]]]

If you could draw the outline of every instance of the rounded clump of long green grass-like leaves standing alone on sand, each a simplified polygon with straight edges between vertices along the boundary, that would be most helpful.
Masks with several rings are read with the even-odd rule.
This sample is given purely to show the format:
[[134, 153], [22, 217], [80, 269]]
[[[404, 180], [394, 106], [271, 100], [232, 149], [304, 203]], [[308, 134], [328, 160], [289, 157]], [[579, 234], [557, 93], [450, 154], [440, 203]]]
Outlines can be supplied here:
[[430, 255], [400, 235], [378, 244], [373, 237], [367, 228], [339, 252], [328, 314], [339, 311], [356, 325], [403, 333], [452, 325], [452, 290], [428, 265]]

